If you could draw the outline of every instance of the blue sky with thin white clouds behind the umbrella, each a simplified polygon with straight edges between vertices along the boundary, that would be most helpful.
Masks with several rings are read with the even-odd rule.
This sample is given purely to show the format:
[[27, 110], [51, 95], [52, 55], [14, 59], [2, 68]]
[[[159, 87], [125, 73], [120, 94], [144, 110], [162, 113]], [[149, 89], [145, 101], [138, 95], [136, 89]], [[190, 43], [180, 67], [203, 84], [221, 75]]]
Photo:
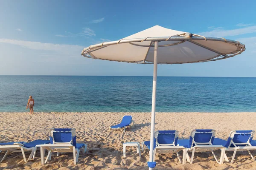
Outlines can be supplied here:
[[256, 77], [256, 1], [0, 1], [0, 74], [152, 76], [153, 65], [87, 59], [82, 49], [155, 25], [239, 40], [217, 62], [159, 65], [159, 76]]

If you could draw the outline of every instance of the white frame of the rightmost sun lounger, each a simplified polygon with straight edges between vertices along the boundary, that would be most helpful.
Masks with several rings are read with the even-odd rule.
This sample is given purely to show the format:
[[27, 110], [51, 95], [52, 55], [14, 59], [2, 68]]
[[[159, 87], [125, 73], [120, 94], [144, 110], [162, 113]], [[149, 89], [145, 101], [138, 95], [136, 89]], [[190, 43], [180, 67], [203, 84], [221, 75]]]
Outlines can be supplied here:
[[[255, 130], [252, 130], [252, 132], [250, 132], [250, 133], [251, 133], [251, 138], [252, 138], [255, 135]], [[230, 147], [230, 145], [229, 145], [229, 147], [226, 148], [227, 151], [234, 151], [232, 159], [230, 161], [230, 164], [233, 164], [233, 161], [234, 161], [235, 156], [236, 156], [236, 151], [243, 151], [243, 150], [246, 150], [249, 153], [249, 155], [251, 156], [251, 158], [253, 159], [253, 161], [255, 161], [255, 159], [253, 158], [253, 155], [250, 152], [250, 150], [256, 150], [256, 146], [252, 146], [250, 144], [250, 139], [248, 139], [248, 141], [245, 142], [245, 143], [235, 143], [235, 142], [233, 142], [233, 137], [234, 137], [235, 134], [240, 134], [240, 133], [236, 133], [236, 130], [233, 130], [233, 131], [230, 132], [230, 135], [229, 135], [229, 137], [231, 138], [230, 145], [233, 144], [235, 147]], [[247, 144], [247, 146], [236, 146], [236, 144]], [[226, 154], [225, 154], [225, 157], [227, 157]]]

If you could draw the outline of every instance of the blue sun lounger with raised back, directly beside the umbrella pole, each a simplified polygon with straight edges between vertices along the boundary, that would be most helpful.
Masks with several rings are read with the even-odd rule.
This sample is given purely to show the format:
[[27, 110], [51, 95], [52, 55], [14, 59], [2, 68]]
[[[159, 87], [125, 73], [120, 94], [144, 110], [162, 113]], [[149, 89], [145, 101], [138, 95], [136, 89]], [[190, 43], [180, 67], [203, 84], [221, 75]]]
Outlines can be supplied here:
[[[177, 145], [179, 132], [177, 130], [158, 130], [154, 133], [154, 155], [155, 160], [156, 153], [176, 153], [177, 157], [182, 164], [186, 163], [187, 148]], [[150, 149], [150, 141], [142, 142], [142, 151], [145, 146]], [[180, 159], [179, 151], [183, 150], [183, 161]], [[189, 160], [188, 160], [189, 161]]]

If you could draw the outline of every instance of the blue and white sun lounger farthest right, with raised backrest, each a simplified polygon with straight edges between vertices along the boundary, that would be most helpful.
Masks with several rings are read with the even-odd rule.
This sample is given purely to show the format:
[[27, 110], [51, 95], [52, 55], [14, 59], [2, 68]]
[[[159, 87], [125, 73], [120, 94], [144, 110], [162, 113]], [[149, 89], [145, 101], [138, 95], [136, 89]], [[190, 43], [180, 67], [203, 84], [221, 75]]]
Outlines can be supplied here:
[[[230, 161], [231, 164], [233, 163], [236, 156], [236, 151], [241, 150], [246, 150], [250, 154], [253, 161], [255, 161], [252, 153], [250, 152], [250, 150], [256, 150], [256, 141], [252, 140], [254, 134], [254, 130], [233, 130], [230, 132], [227, 141], [223, 139], [215, 139], [213, 144], [221, 144], [226, 147], [227, 151], [234, 151]], [[225, 159], [227, 159], [226, 155]]]

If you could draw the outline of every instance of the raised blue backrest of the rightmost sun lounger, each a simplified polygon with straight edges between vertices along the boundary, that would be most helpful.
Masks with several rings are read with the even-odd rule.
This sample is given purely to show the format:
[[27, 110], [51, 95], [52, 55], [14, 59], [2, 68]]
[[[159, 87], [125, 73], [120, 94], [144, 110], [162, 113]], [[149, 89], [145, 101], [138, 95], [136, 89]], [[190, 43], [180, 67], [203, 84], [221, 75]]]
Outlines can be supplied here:
[[230, 132], [225, 147], [251, 146], [250, 142], [254, 134], [254, 130], [233, 130]]

